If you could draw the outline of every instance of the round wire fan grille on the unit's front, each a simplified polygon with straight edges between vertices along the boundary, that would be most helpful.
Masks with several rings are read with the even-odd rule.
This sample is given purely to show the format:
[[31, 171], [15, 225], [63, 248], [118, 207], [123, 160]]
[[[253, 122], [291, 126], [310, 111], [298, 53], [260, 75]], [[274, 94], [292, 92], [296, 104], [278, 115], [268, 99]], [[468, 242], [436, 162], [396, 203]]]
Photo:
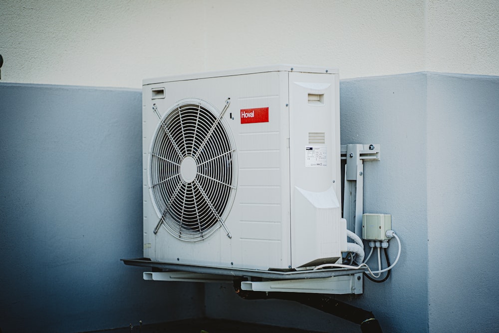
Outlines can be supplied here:
[[161, 119], [151, 145], [150, 189], [163, 226], [199, 241], [224, 223], [236, 190], [233, 141], [218, 110], [184, 100]]

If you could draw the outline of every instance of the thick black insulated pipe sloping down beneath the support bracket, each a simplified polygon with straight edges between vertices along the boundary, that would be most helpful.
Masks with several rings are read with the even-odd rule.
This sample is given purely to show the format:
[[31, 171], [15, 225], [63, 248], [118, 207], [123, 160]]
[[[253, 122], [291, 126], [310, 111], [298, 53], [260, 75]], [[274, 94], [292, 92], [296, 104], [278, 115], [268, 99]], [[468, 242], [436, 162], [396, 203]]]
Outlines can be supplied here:
[[241, 282], [239, 282], [238, 286], [237, 281], [234, 281], [234, 288], [236, 290], [236, 293], [245, 300], [276, 299], [294, 301], [360, 325], [360, 330], [362, 333], [383, 332], [381, 330], [379, 322], [376, 320], [376, 318], [374, 318], [372, 312], [334, 300], [326, 295], [305, 293], [252, 292], [241, 290]]

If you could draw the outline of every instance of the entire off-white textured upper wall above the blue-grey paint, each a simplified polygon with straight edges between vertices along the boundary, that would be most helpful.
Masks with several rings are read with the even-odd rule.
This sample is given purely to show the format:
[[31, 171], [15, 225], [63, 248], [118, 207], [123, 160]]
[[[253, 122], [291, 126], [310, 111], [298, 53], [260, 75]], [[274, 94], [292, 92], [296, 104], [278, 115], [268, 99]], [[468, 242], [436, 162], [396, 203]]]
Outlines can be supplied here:
[[499, 75], [499, 1], [0, 0], [1, 81], [139, 88], [274, 63]]

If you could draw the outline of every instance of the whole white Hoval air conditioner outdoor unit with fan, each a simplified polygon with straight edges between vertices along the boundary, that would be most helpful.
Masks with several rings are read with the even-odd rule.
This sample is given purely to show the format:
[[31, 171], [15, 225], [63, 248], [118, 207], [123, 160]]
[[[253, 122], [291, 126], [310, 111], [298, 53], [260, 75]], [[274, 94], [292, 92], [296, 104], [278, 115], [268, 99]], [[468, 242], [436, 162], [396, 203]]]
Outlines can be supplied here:
[[144, 257], [341, 263], [338, 71], [292, 67], [144, 80]]

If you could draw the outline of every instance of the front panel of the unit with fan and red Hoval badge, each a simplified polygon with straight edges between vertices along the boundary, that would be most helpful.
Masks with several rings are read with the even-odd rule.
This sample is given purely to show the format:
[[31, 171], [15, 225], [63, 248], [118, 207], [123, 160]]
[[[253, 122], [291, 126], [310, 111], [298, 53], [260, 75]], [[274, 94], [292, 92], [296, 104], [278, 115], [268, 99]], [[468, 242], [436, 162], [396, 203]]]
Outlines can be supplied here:
[[[145, 257], [259, 269], [290, 265], [287, 75], [267, 72], [144, 86]], [[191, 105], [196, 101], [202, 104], [198, 111]], [[210, 115], [200, 118], [196, 112]], [[213, 116], [220, 119], [210, 122]], [[165, 126], [172, 119], [182, 128], [175, 131], [174, 125]], [[211, 140], [215, 132], [223, 132], [221, 128], [230, 143]], [[155, 150], [158, 136], [168, 149]], [[201, 142], [194, 143], [192, 137], [200, 137]], [[226, 148], [228, 144], [234, 145], [234, 151]], [[227, 171], [225, 164], [236, 169]], [[151, 176], [151, 168], [157, 165], [164, 167]], [[232, 177], [231, 172], [237, 174]], [[170, 189], [157, 190], [164, 182], [171, 183]], [[221, 212], [217, 193], [222, 196], [224, 186], [231, 192]], [[153, 199], [155, 195], [163, 197], [162, 205]], [[195, 216], [220, 216], [220, 223], [198, 227], [191, 223]]]

